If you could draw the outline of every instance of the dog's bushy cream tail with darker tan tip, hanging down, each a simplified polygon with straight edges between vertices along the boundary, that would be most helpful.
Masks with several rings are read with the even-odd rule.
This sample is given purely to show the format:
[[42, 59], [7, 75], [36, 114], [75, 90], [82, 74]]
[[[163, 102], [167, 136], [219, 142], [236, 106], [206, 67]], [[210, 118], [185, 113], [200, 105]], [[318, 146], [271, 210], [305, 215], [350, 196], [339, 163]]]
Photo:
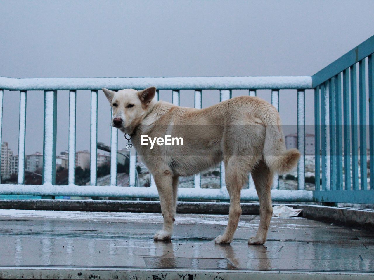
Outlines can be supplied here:
[[300, 152], [297, 149], [286, 150], [281, 118], [275, 108], [267, 112], [265, 124], [266, 137], [263, 156], [267, 167], [278, 174], [291, 171], [297, 165]]

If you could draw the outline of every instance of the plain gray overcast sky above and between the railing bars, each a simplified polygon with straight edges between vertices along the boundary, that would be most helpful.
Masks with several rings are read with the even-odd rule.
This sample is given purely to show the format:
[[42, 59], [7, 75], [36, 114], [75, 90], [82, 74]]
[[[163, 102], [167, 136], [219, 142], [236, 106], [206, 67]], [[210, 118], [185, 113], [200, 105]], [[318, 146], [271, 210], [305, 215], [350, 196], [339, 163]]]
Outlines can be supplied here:
[[[374, 33], [374, 1], [0, 1], [0, 76], [313, 75]], [[234, 91], [233, 96], [246, 94]], [[306, 124], [313, 95], [306, 91]], [[270, 91], [258, 91], [270, 101]], [[160, 98], [171, 100], [171, 92]], [[203, 106], [219, 101], [203, 92]], [[77, 150], [89, 149], [90, 94], [77, 92]], [[110, 109], [98, 100], [98, 141]], [[181, 91], [193, 106], [193, 91]], [[296, 124], [296, 91], [281, 91]], [[4, 92], [3, 141], [18, 150], [19, 92]], [[57, 151], [68, 144], [68, 92], [58, 92]], [[125, 144], [119, 135], [119, 148]], [[26, 153], [43, 149], [43, 93], [27, 96]]]

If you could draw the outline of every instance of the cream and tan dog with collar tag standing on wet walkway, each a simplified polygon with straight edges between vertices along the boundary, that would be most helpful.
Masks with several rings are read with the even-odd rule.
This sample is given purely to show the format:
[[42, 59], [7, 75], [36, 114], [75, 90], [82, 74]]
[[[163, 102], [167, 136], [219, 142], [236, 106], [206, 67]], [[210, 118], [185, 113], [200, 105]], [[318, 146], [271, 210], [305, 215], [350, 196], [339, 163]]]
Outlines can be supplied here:
[[[131, 136], [141, 160], [153, 175], [160, 196], [163, 228], [154, 240], [171, 239], [177, 208], [178, 178], [198, 174], [224, 162], [230, 195], [229, 221], [216, 244], [229, 244], [242, 209], [240, 192], [249, 172], [260, 202], [260, 225], [248, 244], [264, 244], [273, 214], [270, 189], [276, 173], [297, 165], [300, 152], [286, 150], [281, 119], [263, 99], [240, 96], [205, 109], [175, 106], [154, 99], [156, 88], [111, 91], [102, 88], [111, 107], [111, 124]], [[183, 138], [183, 145], [142, 145], [142, 135]]]

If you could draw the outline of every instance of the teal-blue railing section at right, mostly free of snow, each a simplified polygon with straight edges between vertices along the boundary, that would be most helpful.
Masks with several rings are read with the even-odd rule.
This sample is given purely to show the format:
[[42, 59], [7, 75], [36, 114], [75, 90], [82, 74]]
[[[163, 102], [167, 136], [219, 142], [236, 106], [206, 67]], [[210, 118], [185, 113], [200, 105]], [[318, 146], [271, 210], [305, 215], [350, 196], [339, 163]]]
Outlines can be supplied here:
[[315, 89], [315, 201], [374, 203], [373, 53], [374, 36], [312, 76]]

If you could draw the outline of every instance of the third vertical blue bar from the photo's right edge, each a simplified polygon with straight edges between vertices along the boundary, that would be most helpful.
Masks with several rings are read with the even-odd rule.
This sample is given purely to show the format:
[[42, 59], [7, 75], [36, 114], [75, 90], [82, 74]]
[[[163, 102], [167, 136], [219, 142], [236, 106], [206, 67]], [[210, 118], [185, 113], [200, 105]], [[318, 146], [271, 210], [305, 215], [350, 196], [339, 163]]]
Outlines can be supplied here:
[[352, 189], [358, 190], [357, 64], [350, 66]]

